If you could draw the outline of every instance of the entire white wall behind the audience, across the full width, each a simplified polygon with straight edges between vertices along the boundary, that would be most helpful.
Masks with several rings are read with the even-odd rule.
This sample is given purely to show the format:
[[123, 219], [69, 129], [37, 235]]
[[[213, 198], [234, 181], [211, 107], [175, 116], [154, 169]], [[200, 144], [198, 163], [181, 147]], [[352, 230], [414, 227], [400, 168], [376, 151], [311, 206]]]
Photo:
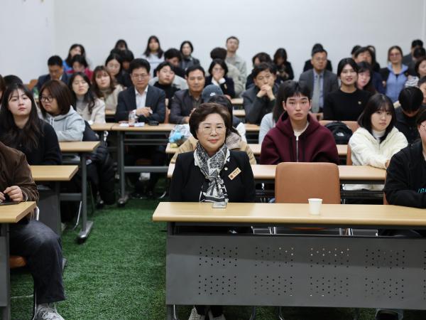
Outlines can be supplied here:
[[[23, 19], [11, 14], [21, 11]], [[426, 0], [1, 0], [0, 21], [2, 43], [11, 44], [0, 50], [0, 73], [15, 71], [24, 80], [45, 73], [50, 55], [65, 58], [72, 43], [84, 45], [94, 67], [118, 38], [140, 56], [152, 34], [163, 49], [189, 39], [205, 67], [209, 51], [230, 35], [240, 38], [239, 55], [249, 68], [255, 53], [273, 55], [282, 46], [298, 75], [316, 42], [329, 51], [334, 70], [355, 44], [375, 45], [381, 65], [389, 46], [408, 52], [414, 38], [426, 40]], [[8, 32], [5, 42], [11, 26], [16, 33]]]

